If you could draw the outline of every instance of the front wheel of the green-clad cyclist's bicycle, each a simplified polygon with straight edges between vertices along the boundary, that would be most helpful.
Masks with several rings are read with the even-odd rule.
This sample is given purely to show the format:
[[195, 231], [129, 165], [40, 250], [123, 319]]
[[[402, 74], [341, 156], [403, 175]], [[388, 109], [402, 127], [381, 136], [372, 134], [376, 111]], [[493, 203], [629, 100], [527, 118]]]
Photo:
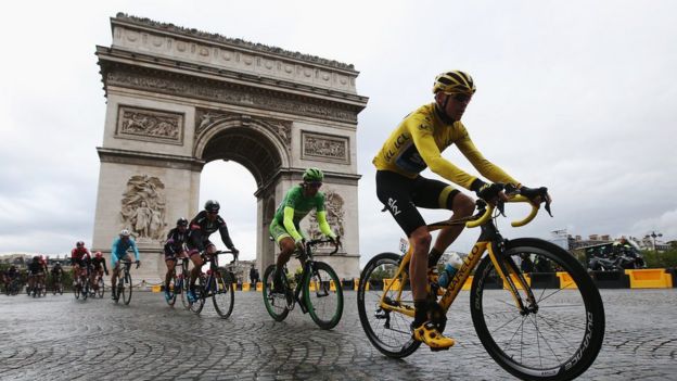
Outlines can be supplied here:
[[[343, 315], [343, 287], [336, 271], [329, 264], [315, 262], [312, 267], [304, 279], [304, 301], [312, 321], [321, 329], [332, 329]], [[330, 281], [334, 282], [335, 291], [331, 291]], [[315, 290], [310, 290], [311, 285]]]

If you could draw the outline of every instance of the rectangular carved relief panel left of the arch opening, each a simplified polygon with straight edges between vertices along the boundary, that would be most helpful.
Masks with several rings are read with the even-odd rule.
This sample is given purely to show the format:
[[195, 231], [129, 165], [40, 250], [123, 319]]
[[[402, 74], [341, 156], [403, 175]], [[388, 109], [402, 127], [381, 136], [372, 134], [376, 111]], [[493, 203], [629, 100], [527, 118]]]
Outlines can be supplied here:
[[119, 107], [118, 136], [181, 141], [183, 117], [153, 110]]

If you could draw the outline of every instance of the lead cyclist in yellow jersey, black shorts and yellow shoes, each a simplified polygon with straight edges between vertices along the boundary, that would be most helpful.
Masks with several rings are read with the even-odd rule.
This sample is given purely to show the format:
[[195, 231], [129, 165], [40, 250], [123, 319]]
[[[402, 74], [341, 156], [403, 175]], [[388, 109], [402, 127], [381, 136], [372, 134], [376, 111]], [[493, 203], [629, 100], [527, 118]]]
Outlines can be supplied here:
[[[470, 139], [461, 117], [475, 90], [475, 84], [467, 73], [451, 71], [439, 74], [433, 86], [435, 102], [407, 115], [373, 160], [378, 169], [376, 195], [414, 247], [409, 266], [416, 306], [412, 336], [432, 348], [447, 348], [454, 345], [454, 340], [444, 336], [429, 321], [433, 306], [426, 291], [427, 269], [436, 266], [442, 253], [457, 239], [463, 226], [443, 229], [430, 250], [432, 237], [417, 206], [450, 209], [454, 212], [451, 218], [458, 219], [471, 216], [475, 203], [448, 183], [424, 178], [420, 173], [430, 167], [435, 174], [474, 191], [491, 204], [499, 198], [507, 200], [500, 186], [486, 183], [442, 156], [442, 151], [456, 144], [485, 178], [524, 190], [525, 194], [531, 190], [486, 160]], [[535, 198], [533, 202], [541, 200]]]

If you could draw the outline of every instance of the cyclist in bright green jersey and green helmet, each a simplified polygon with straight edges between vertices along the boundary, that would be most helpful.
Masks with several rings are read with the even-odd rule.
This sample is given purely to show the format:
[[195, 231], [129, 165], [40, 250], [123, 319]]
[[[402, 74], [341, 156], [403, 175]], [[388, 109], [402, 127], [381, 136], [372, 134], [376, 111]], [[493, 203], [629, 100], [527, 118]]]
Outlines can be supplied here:
[[308, 168], [303, 175], [304, 182], [294, 186], [284, 195], [284, 200], [278, 207], [272, 223], [270, 236], [280, 245], [280, 255], [276, 263], [273, 275], [273, 292], [282, 292], [282, 268], [289, 262], [296, 249], [305, 249], [305, 237], [298, 224], [311, 211], [316, 209], [320, 231], [333, 241], [338, 237], [332, 231], [327, 223], [324, 209], [324, 193], [319, 189], [322, 186], [324, 174], [318, 168]]

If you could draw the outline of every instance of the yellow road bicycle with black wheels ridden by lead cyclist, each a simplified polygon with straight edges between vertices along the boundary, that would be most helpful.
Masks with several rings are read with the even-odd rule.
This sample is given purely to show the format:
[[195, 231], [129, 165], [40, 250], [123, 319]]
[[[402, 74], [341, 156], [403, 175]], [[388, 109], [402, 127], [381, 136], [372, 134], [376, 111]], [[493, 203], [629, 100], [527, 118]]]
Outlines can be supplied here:
[[[547, 194], [547, 189], [540, 191]], [[532, 205], [529, 215], [512, 223], [513, 227], [528, 224], [539, 208], [523, 195], [509, 202]], [[503, 239], [494, 223], [502, 215], [502, 205], [498, 206], [501, 213], [493, 217], [494, 206], [480, 200], [474, 217], [429, 225], [430, 231], [460, 224], [482, 228], [446, 289], [436, 283], [434, 271], [429, 271], [429, 295], [434, 303], [430, 319], [444, 331], [446, 314], [474, 269], [472, 321], [494, 360], [522, 379], [573, 379], [592, 365], [602, 346], [604, 308], [599, 291], [583, 265], [560, 246], [535, 238]], [[549, 204], [546, 209], [550, 213]], [[358, 287], [359, 318], [369, 341], [395, 358], [406, 357], [421, 345], [410, 330], [414, 317], [408, 275], [412, 250], [404, 256], [374, 256], [362, 270]], [[524, 271], [528, 262], [539, 264], [539, 272]]]

